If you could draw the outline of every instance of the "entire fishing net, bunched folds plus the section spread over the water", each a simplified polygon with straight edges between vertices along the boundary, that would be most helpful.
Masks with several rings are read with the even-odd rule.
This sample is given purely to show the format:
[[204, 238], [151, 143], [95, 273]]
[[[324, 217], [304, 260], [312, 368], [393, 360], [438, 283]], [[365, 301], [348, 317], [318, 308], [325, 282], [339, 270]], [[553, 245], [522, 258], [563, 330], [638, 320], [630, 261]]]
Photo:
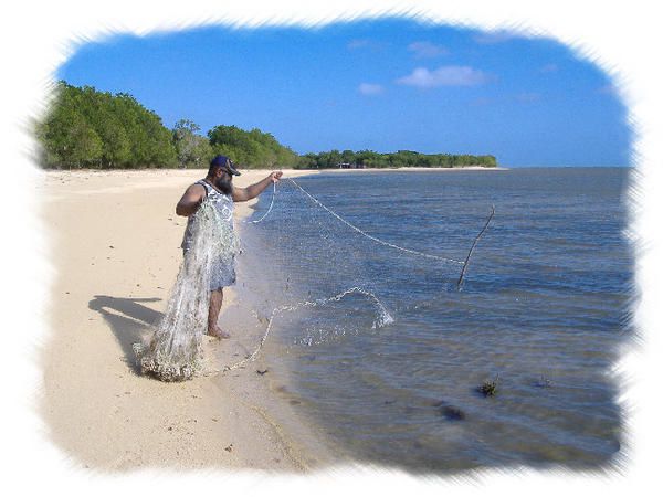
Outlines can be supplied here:
[[[466, 266], [464, 251], [453, 251], [450, 258], [423, 252], [415, 244], [401, 246], [388, 241], [397, 239], [393, 230], [401, 223], [412, 225], [414, 221], [402, 207], [389, 211], [397, 219], [387, 224], [370, 212], [357, 210], [350, 200], [341, 205], [341, 215], [328, 208], [324, 193], [320, 197], [295, 180], [282, 181], [278, 192], [274, 187], [266, 211], [261, 209], [253, 220], [240, 223], [243, 255], [238, 260], [238, 314], [255, 316], [265, 328], [261, 339], [243, 345], [248, 350], [244, 359], [225, 364], [223, 370], [254, 360], [275, 327], [282, 339], [299, 346], [375, 332], [394, 321], [389, 308], [398, 311], [412, 303], [420, 305], [425, 295], [459, 286], [459, 271]], [[204, 201], [193, 219], [191, 248], [166, 314], [149, 345], [135, 346], [143, 373], [181, 381], [203, 370], [201, 340], [208, 321], [212, 266], [219, 261], [229, 263], [240, 252], [232, 226], [218, 216], [213, 205]], [[419, 239], [425, 236], [424, 231]], [[446, 242], [466, 242], [465, 236], [445, 233]], [[387, 279], [382, 277], [385, 271], [390, 274]], [[394, 292], [394, 285], [410, 288], [407, 297]]]

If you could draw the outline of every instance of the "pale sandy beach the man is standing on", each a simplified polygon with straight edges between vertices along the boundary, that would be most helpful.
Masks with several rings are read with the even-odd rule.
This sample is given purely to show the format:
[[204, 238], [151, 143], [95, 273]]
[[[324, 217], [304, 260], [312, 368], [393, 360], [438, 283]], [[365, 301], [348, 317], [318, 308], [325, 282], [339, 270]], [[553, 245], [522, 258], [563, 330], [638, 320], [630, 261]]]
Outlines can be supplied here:
[[[245, 186], [266, 172], [246, 171], [236, 182]], [[181, 261], [186, 219], [175, 215], [175, 204], [203, 176], [50, 171], [38, 187], [57, 272], [39, 401], [51, 440], [75, 466], [302, 472], [328, 462], [324, 451], [290, 437], [271, 416], [278, 400], [267, 384], [277, 380], [263, 381], [255, 373], [259, 361], [183, 383], [136, 374], [131, 343], [160, 316]], [[238, 218], [250, 212], [249, 203], [238, 204]], [[239, 355], [233, 338], [206, 339], [206, 356], [219, 348]]]

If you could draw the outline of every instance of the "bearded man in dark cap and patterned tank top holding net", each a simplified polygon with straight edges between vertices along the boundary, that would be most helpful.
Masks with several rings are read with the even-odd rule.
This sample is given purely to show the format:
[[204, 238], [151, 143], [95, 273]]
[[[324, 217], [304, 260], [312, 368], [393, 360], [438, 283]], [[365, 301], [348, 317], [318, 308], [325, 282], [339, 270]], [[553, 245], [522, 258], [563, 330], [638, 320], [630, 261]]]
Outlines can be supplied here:
[[[208, 198], [210, 200], [214, 209], [219, 212], [221, 222], [229, 223], [229, 229], [232, 230], [233, 202], [245, 202], [254, 199], [270, 184], [278, 182], [283, 172], [274, 171], [262, 181], [251, 184], [248, 188], [233, 187], [232, 177], [240, 175], [240, 171], [236, 170], [228, 157], [217, 156], [210, 162], [207, 177], [187, 188], [187, 191], [175, 209], [178, 215], [189, 218], [182, 241], [185, 256], [191, 246], [192, 216], [196, 214], [203, 199]], [[231, 248], [229, 247], [229, 250]], [[224, 257], [224, 260], [228, 261], [228, 257]], [[235, 282], [234, 257], [231, 257], [230, 261], [228, 263], [220, 260], [212, 267], [207, 334], [218, 338], [230, 338], [230, 335], [217, 324], [221, 305], [223, 304], [223, 287], [233, 285]]]

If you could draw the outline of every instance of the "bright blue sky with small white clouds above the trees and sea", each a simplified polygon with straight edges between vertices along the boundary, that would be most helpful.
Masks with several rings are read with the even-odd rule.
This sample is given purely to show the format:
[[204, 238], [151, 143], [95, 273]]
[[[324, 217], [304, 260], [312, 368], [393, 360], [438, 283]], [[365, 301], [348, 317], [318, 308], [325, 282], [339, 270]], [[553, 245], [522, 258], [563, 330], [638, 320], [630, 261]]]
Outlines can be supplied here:
[[171, 127], [260, 128], [299, 154], [493, 154], [503, 166], [628, 166], [625, 108], [546, 39], [382, 20], [204, 28], [86, 43], [73, 85], [134, 95]]

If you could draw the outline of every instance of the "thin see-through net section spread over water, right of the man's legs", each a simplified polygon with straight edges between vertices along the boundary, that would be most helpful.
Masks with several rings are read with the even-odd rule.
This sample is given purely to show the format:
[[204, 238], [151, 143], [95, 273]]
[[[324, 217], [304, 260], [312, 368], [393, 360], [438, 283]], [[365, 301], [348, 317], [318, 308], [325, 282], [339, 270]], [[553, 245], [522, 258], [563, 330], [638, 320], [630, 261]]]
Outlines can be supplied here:
[[[254, 360], [267, 336], [294, 357], [297, 350], [381, 334], [399, 310], [456, 288], [467, 241], [466, 233], [451, 232], [453, 223], [436, 223], [448, 230], [448, 243], [457, 242], [451, 258], [439, 248], [424, 252], [430, 243], [403, 240], [402, 224], [414, 224], [419, 215], [407, 212], [407, 204], [375, 199], [386, 213], [376, 215], [358, 208], [352, 194], [308, 188], [305, 180], [281, 181], [271, 195], [265, 192], [253, 219], [239, 224], [243, 251], [238, 260], [238, 314], [254, 315], [264, 334], [244, 343], [252, 353], [224, 370]], [[425, 236], [432, 235], [422, 232], [419, 239]]]

